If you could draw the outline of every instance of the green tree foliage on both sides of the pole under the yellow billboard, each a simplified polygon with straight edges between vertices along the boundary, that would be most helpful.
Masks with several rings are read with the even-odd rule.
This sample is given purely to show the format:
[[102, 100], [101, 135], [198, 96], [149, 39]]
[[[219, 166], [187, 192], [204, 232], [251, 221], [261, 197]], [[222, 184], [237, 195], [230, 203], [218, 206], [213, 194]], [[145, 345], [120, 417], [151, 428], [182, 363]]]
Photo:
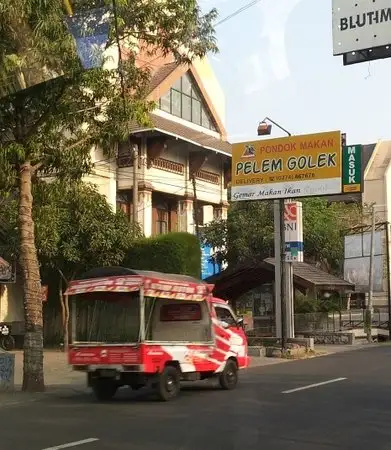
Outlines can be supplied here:
[[[361, 221], [357, 205], [328, 204], [322, 198], [302, 199], [304, 252], [308, 262], [340, 273], [343, 231]], [[203, 230], [203, 241], [218, 249], [220, 261], [237, 264], [259, 261], [274, 254], [272, 202], [237, 202], [227, 221], [214, 221]]]

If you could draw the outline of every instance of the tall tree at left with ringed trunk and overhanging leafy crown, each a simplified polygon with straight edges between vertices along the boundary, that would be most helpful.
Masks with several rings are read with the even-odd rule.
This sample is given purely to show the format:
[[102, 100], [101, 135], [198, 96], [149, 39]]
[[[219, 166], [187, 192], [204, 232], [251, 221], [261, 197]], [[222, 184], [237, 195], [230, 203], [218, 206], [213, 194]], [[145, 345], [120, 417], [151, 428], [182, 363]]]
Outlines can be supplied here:
[[[139, 43], [190, 62], [216, 50], [212, 22], [196, 0], [77, 0], [75, 12], [110, 7], [112, 47], [126, 58], [84, 70], [67, 27], [62, 0], [0, 0], [0, 190], [17, 192], [19, 261], [24, 285], [23, 390], [42, 391], [41, 282], [32, 186], [39, 173], [78, 179], [91, 169], [91, 146], [124, 139], [129, 122], [148, 122], [147, 66]], [[122, 53], [122, 55], [125, 52]]]

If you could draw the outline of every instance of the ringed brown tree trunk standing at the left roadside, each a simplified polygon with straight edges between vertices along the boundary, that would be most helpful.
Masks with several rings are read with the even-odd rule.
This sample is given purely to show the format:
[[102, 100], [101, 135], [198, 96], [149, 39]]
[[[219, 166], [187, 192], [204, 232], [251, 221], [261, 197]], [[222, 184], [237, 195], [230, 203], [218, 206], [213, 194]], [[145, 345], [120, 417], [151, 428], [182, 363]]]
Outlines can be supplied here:
[[23, 164], [19, 174], [20, 265], [23, 278], [25, 321], [22, 390], [42, 392], [45, 390], [43, 314], [41, 277], [32, 217], [32, 175], [31, 164], [28, 162]]

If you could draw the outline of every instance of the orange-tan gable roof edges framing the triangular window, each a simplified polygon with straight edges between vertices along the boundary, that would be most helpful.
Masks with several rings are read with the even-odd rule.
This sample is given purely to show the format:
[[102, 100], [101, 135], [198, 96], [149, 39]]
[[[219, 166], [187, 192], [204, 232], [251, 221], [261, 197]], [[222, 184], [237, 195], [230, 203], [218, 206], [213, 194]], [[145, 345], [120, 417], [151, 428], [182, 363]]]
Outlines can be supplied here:
[[193, 65], [179, 65], [175, 62], [169, 62], [155, 69], [150, 81], [149, 99], [158, 101], [186, 72], [190, 72], [190, 74], [193, 76], [195, 84], [198, 87], [201, 96], [210, 111], [213, 121], [217, 125], [217, 131], [221, 134], [223, 139], [226, 139], [227, 131], [224, 127], [224, 124], [213, 105], [212, 99], [205, 89], [201, 76]]

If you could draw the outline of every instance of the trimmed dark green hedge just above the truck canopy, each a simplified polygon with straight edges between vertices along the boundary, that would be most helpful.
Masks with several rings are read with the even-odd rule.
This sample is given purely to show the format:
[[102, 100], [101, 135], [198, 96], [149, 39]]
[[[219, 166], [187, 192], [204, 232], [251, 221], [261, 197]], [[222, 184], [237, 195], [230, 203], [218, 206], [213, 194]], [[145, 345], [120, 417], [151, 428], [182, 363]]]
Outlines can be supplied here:
[[200, 241], [190, 233], [168, 233], [144, 238], [130, 248], [124, 266], [200, 278]]

